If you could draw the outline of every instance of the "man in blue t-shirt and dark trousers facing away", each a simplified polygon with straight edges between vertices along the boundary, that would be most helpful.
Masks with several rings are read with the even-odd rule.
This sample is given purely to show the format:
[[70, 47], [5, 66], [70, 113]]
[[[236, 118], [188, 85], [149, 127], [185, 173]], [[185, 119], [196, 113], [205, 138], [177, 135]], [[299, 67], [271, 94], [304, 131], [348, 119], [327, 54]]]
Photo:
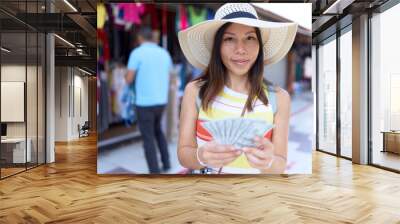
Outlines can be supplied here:
[[172, 60], [168, 51], [153, 42], [150, 28], [139, 30], [138, 41], [140, 46], [129, 56], [126, 81], [135, 88], [138, 125], [149, 171], [160, 173], [154, 140], [160, 150], [163, 171], [167, 171], [170, 161], [161, 118], [168, 101]]

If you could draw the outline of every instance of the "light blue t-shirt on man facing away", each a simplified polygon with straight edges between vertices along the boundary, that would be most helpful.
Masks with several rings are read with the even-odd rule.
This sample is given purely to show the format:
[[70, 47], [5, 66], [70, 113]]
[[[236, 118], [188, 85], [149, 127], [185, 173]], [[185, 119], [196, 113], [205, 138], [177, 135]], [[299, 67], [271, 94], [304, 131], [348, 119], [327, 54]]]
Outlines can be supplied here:
[[143, 43], [129, 55], [128, 69], [136, 71], [136, 105], [155, 106], [168, 102], [172, 59], [155, 43]]

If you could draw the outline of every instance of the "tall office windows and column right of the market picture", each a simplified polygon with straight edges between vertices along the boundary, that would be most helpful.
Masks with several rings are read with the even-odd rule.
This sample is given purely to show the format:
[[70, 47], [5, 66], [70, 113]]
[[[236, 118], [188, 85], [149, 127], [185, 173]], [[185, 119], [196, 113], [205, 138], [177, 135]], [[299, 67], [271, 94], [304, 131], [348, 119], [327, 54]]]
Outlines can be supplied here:
[[313, 37], [316, 147], [355, 163], [399, 171], [399, 105], [394, 97], [399, 91], [399, 44], [393, 27], [400, 7], [395, 1], [356, 4]]

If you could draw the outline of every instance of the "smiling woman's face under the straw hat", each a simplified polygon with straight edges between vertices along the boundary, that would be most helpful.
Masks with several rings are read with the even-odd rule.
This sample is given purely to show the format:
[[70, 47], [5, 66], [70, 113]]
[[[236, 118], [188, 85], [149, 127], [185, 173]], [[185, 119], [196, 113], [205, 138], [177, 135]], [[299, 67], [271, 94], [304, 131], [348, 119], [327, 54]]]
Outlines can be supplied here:
[[247, 75], [259, 50], [254, 27], [232, 23], [222, 36], [221, 59], [230, 75]]

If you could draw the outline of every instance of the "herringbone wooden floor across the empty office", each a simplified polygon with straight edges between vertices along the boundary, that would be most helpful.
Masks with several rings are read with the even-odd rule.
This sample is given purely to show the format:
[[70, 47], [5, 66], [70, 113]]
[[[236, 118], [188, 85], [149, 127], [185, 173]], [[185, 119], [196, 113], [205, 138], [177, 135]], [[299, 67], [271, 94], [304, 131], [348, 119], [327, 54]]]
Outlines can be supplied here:
[[315, 152], [313, 175], [98, 176], [96, 139], [0, 181], [0, 223], [400, 223], [400, 175]]

